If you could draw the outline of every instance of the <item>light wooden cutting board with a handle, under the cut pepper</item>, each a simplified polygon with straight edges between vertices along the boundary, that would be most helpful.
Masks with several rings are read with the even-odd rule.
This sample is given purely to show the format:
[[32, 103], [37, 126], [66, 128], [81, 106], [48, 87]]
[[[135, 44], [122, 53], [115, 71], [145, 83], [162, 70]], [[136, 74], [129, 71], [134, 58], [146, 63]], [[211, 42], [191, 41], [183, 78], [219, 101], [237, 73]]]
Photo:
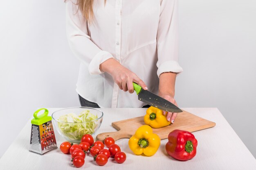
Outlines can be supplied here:
[[[144, 116], [112, 122], [112, 126], [117, 129], [117, 131], [100, 133], [96, 138], [102, 142], [106, 137], [113, 137], [115, 141], [122, 138], [129, 139], [135, 134], [135, 131], [144, 124]], [[168, 138], [168, 134], [175, 129], [194, 132], [214, 126], [214, 122], [200, 118], [183, 110], [183, 112], [178, 113], [174, 124], [159, 129], [153, 129], [153, 133], [156, 133], [161, 139], [166, 139]]]

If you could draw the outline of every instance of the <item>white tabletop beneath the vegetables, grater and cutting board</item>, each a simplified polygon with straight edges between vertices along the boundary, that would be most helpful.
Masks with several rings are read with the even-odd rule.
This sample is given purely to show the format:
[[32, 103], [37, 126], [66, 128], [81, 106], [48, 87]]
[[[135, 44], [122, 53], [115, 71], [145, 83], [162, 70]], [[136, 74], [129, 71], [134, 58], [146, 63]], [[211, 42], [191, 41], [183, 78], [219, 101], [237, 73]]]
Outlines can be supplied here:
[[[49, 113], [53, 113], [58, 109], [61, 108], [49, 108]], [[121, 150], [126, 153], [127, 159], [124, 163], [118, 164], [110, 158], [108, 163], [101, 167], [93, 161], [92, 156], [86, 155], [85, 164], [81, 169], [256, 170], [256, 159], [217, 108], [182, 109], [207, 120], [216, 122], [216, 126], [213, 128], [193, 132], [198, 140], [197, 154], [193, 159], [190, 159], [189, 161], [177, 161], [168, 156], [165, 150], [167, 139], [161, 141], [157, 153], [152, 157], [134, 155], [128, 146], [128, 139], [120, 139], [116, 141], [116, 144], [118, 144]], [[111, 122], [143, 116], [146, 113], [145, 108], [102, 108], [101, 110], [103, 111], [104, 116], [97, 134], [116, 131], [111, 126]], [[58, 135], [56, 129], [54, 129], [54, 131], [59, 147], [65, 139]], [[29, 152], [30, 133], [31, 123], [29, 120], [0, 159], [0, 170], [75, 169], [71, 165], [70, 155], [61, 153], [59, 148], [52, 150], [43, 156]]]

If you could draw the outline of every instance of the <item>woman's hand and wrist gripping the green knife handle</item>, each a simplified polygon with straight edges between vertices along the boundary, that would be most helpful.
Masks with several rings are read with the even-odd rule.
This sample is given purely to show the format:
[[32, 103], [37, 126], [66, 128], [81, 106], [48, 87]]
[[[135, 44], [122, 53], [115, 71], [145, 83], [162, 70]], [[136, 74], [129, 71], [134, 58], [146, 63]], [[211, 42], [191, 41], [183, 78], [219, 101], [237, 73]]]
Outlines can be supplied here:
[[128, 68], [124, 67], [113, 58], [101, 63], [99, 68], [103, 72], [110, 74], [115, 83], [117, 83], [119, 88], [124, 90], [124, 92], [134, 92], [132, 82], [139, 84], [144, 90], [148, 89], [146, 84], [134, 72], [131, 72]]

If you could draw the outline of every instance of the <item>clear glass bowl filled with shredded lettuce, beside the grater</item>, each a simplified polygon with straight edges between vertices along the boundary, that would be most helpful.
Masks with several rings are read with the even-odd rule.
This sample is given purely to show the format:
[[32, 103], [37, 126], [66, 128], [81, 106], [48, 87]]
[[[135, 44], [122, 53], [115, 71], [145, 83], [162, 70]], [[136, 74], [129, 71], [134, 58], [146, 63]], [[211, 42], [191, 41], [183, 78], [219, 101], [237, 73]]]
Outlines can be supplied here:
[[[84, 112], [86, 115], [86, 112], [88, 111], [92, 113], [92, 115], [97, 116], [97, 118], [95, 118], [94, 120], [83, 122], [83, 120], [85, 119], [83, 119], [82, 117], [82, 120], [79, 120], [81, 122], [76, 122], [76, 118], [73, 119], [72, 116], [65, 116], [70, 113], [79, 116], [81, 112]], [[63, 118], [65, 118], [65, 120], [63, 120]], [[80, 143], [82, 136], [85, 134], [94, 135], [101, 126], [102, 119], [103, 112], [99, 109], [91, 107], [70, 107], [52, 113], [54, 128], [57, 129], [58, 133], [67, 141], [74, 143]]]

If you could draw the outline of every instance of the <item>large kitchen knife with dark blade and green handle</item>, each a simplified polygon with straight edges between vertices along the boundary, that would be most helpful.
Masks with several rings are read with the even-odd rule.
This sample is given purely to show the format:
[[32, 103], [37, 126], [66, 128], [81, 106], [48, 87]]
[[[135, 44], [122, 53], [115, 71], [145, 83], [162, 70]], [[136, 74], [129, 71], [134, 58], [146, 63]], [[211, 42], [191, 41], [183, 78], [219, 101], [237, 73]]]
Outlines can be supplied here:
[[165, 100], [164, 98], [159, 97], [156, 94], [149, 92], [148, 90], [142, 89], [142, 87], [136, 83], [132, 82], [132, 84], [135, 92], [138, 95], [138, 100], [140, 100], [141, 102], [145, 102], [146, 104], [157, 107], [163, 111], [174, 113], [182, 112], [180, 108], [178, 108], [168, 100]]

